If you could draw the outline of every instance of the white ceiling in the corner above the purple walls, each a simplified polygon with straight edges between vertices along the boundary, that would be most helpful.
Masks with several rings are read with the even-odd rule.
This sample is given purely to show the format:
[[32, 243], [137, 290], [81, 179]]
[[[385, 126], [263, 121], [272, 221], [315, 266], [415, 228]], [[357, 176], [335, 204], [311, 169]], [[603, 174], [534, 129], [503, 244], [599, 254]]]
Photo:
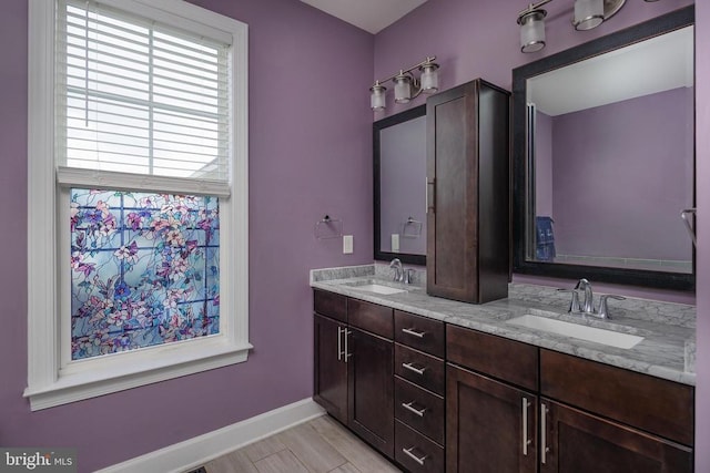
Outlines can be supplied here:
[[376, 34], [426, 0], [301, 0]]

